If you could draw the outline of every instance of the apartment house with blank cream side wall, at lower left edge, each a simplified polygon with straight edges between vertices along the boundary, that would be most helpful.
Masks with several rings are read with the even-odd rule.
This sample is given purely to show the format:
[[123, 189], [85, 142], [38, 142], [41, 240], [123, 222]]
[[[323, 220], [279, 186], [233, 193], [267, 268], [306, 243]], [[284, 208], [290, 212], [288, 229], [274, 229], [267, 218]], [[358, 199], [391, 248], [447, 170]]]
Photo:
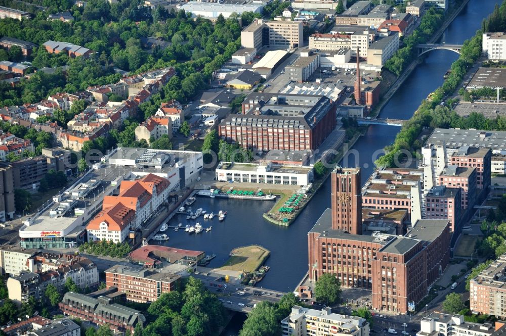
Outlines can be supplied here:
[[9, 299], [18, 306], [28, 302], [30, 297], [39, 300], [43, 295], [40, 292], [40, 276], [32, 272], [21, 272], [19, 275], [9, 277], [7, 290]]

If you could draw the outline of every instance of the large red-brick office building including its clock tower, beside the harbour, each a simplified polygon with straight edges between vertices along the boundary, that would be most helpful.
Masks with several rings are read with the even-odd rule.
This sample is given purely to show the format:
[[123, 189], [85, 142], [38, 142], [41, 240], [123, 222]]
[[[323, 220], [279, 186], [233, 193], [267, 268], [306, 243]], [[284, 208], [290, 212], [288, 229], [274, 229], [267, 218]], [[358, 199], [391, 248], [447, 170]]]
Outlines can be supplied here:
[[332, 208], [308, 234], [310, 280], [335, 274], [345, 287], [370, 289], [374, 309], [406, 313], [408, 303], [423, 299], [448, 264], [448, 220], [418, 220], [404, 236], [356, 234], [362, 232], [355, 186], [360, 172], [338, 168], [331, 176]]

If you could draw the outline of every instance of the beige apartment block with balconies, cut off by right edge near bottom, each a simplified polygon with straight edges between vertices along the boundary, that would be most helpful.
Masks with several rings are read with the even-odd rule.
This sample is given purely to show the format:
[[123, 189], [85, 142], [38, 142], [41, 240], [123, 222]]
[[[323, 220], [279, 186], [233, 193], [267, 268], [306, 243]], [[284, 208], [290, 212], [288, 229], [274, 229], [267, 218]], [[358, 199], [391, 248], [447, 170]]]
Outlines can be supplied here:
[[506, 254], [469, 282], [470, 309], [481, 314], [506, 317]]

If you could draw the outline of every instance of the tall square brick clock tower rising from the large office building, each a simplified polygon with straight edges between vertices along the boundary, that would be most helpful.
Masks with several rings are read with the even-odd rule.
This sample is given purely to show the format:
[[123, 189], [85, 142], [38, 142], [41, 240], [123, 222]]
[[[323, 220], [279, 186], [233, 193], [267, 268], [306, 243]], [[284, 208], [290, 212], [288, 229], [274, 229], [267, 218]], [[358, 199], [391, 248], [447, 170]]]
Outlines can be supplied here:
[[362, 234], [360, 168], [337, 167], [332, 179], [332, 229]]

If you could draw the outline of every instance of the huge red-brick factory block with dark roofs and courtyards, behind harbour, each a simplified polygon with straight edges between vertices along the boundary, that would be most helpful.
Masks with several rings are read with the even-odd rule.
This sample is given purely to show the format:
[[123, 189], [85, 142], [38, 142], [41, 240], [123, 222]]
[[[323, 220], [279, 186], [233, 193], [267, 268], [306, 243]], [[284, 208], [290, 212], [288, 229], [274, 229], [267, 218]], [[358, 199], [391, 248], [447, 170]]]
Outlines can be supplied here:
[[242, 103], [244, 116], [229, 115], [218, 131], [243, 148], [315, 150], [335, 127], [335, 109], [323, 95], [253, 92]]

